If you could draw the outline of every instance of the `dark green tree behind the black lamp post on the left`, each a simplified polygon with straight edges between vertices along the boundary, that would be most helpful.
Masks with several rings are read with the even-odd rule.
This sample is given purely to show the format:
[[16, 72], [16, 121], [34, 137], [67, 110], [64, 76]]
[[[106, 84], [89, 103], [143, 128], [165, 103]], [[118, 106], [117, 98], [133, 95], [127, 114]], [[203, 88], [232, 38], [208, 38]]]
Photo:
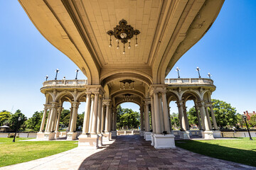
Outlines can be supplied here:
[[[21, 120], [18, 123], [18, 117], [21, 118]], [[18, 129], [21, 128], [21, 125], [27, 120], [26, 116], [21, 113], [20, 110], [17, 110], [16, 113], [11, 115], [11, 118], [9, 118], [9, 125], [11, 130], [15, 130], [16, 126], [18, 125]]]

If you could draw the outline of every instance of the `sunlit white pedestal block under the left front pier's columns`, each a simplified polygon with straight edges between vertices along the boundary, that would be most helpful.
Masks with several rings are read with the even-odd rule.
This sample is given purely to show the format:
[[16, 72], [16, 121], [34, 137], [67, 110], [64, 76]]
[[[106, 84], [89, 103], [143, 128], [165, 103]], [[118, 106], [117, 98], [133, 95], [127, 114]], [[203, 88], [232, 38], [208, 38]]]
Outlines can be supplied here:
[[78, 147], [86, 147], [87, 149], [99, 147], [99, 135], [80, 135], [78, 140]]

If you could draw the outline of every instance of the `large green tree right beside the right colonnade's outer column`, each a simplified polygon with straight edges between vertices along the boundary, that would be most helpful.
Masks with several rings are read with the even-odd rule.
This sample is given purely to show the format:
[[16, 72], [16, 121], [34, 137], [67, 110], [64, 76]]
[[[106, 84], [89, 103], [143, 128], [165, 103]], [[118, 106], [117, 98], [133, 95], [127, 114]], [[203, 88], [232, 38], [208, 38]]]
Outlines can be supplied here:
[[235, 108], [230, 103], [212, 99], [213, 111], [215, 114], [217, 125], [221, 128], [227, 126], [235, 126], [238, 124], [238, 116]]

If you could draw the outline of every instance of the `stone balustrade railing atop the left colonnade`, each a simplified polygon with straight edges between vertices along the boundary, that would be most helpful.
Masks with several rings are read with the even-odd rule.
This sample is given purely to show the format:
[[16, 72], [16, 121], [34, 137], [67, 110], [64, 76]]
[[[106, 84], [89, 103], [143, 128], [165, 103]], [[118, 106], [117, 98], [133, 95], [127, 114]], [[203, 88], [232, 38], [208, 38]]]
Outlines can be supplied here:
[[87, 79], [75, 79], [75, 80], [49, 80], [44, 81], [43, 86], [85, 86], [87, 85]]

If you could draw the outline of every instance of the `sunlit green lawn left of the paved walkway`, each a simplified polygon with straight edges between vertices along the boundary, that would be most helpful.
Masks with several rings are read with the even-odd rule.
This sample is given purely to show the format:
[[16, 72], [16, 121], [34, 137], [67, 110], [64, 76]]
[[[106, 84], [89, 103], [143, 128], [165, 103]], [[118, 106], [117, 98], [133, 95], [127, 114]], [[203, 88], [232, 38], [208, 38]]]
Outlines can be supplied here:
[[0, 167], [28, 162], [78, 147], [77, 141], [21, 141], [31, 138], [0, 138]]

